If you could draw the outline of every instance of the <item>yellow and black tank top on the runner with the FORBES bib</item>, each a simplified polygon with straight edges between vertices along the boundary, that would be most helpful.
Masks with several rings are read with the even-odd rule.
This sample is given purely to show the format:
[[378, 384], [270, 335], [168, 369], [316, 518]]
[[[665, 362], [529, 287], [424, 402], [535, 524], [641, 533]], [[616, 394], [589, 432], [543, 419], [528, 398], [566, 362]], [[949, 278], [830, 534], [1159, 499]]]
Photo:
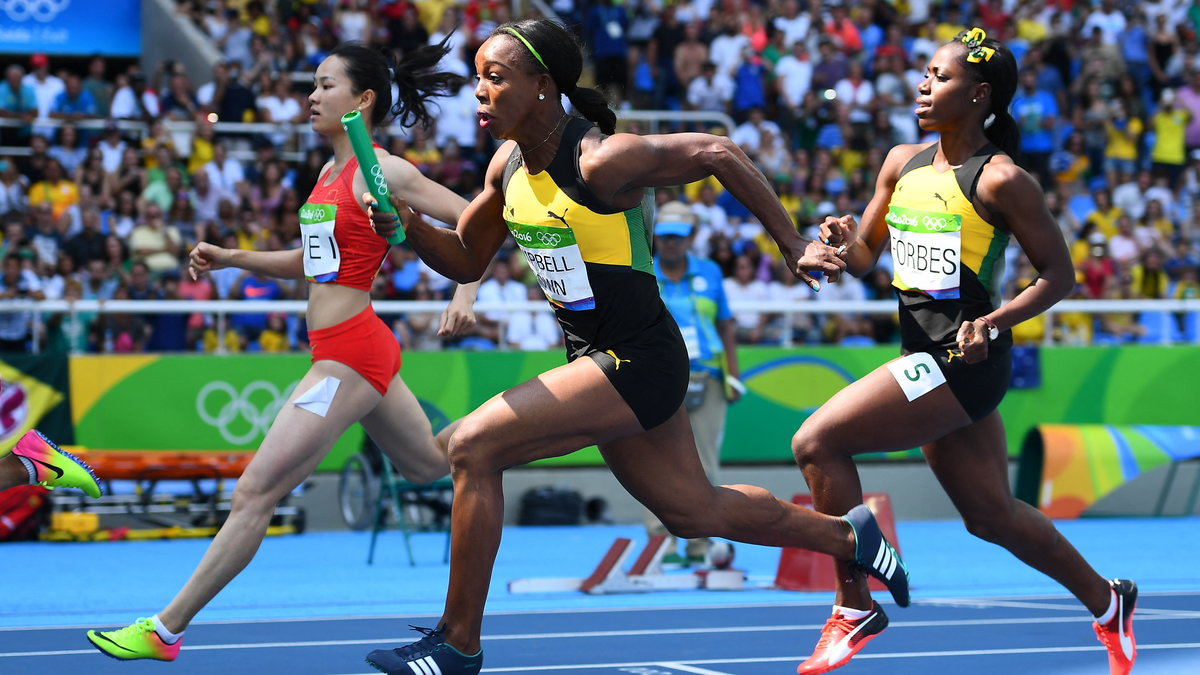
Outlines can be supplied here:
[[984, 166], [1000, 150], [989, 143], [946, 172], [934, 169], [936, 153], [934, 143], [905, 165], [884, 215], [901, 341], [910, 351], [953, 344], [964, 321], [997, 306], [1009, 238], [973, 205]]

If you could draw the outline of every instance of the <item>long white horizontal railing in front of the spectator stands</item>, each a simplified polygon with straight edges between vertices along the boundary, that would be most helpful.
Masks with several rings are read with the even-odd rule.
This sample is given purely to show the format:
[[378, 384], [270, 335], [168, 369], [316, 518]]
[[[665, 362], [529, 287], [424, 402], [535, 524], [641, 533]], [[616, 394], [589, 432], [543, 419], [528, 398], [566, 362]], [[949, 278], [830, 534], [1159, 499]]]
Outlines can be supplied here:
[[[372, 303], [377, 313], [410, 315], [440, 313], [446, 307], [445, 300], [376, 300]], [[787, 300], [750, 300], [731, 301], [734, 312], [766, 312], [780, 315], [785, 325], [792, 325], [796, 315], [826, 313], [864, 313], [892, 315], [896, 312], [895, 300], [860, 301], [805, 301]], [[528, 311], [550, 311], [546, 303], [528, 300], [522, 303], [476, 303], [476, 313], [510, 313]], [[301, 313], [307, 310], [305, 300], [0, 300], [0, 313], [31, 312], [35, 327], [44, 323], [47, 315], [54, 313], [210, 313], [215, 317], [218, 351], [223, 350], [224, 331], [228, 315], [232, 313]], [[1200, 299], [1194, 300], [1063, 300], [1045, 312], [1046, 325], [1044, 345], [1054, 344], [1054, 322], [1061, 313], [1177, 313], [1200, 312]], [[1160, 342], [1172, 344], [1170, 331], [1163, 331]], [[1200, 336], [1195, 339], [1200, 345]], [[791, 347], [792, 331], [784, 331], [785, 347]]]

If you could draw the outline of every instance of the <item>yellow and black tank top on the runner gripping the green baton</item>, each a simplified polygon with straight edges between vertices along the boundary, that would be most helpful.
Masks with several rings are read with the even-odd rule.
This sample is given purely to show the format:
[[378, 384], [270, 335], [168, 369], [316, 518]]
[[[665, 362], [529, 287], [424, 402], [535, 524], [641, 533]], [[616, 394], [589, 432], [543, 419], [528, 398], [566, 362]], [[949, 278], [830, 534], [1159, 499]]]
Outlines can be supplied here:
[[652, 253], [653, 195], [613, 210], [580, 174], [593, 124], [572, 117], [546, 171], [526, 171], [520, 148], [504, 171], [504, 221], [566, 336], [568, 356], [606, 350], [662, 321]]

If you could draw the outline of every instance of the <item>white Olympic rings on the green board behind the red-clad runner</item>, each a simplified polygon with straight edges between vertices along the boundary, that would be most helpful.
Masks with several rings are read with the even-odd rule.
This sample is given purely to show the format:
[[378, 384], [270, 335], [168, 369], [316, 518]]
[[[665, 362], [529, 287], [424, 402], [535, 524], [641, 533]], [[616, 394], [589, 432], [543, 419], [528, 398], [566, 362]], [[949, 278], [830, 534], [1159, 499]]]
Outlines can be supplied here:
[[282, 392], [271, 382], [256, 380], [241, 392], [215, 380], [196, 395], [196, 414], [232, 446], [244, 446], [266, 435], [271, 422], [299, 382]]

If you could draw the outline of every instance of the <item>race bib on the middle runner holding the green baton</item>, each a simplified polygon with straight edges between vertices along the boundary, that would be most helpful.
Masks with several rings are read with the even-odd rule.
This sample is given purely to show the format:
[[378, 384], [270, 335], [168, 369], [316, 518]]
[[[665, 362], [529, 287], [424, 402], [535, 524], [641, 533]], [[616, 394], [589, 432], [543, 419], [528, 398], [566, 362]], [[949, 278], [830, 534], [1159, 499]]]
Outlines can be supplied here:
[[570, 227], [521, 225], [509, 221], [509, 231], [538, 276], [546, 298], [568, 310], [595, 309], [583, 253]]

